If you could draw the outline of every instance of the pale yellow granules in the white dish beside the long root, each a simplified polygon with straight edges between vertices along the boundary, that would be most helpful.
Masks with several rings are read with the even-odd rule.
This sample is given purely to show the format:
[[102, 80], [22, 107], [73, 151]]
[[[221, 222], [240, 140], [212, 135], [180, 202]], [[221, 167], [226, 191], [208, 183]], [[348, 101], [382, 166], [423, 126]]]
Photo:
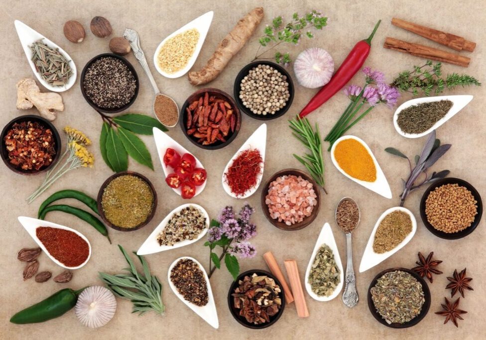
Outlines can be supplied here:
[[168, 39], [160, 48], [157, 61], [159, 67], [167, 73], [175, 73], [186, 67], [199, 40], [196, 28], [188, 29]]

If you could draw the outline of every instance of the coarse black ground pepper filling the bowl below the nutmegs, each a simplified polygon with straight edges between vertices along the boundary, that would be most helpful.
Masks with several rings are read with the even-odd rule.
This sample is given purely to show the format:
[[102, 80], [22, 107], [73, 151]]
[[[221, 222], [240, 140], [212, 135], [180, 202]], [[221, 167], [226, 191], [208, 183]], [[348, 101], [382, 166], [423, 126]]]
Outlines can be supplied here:
[[104, 57], [86, 70], [83, 87], [88, 98], [102, 109], [119, 109], [135, 95], [136, 80], [121, 60]]

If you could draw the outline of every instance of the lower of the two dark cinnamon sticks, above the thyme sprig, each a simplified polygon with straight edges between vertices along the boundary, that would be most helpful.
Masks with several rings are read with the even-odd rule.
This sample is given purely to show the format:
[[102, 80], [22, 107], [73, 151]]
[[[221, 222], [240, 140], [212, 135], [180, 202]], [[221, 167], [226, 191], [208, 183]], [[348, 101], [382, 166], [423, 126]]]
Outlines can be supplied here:
[[468, 67], [469, 63], [471, 62], [471, 58], [464, 57], [459, 54], [449, 53], [437, 48], [406, 42], [390, 37], [386, 37], [383, 47], [408, 53], [417, 57], [438, 60], [444, 63], [455, 64], [463, 67]]

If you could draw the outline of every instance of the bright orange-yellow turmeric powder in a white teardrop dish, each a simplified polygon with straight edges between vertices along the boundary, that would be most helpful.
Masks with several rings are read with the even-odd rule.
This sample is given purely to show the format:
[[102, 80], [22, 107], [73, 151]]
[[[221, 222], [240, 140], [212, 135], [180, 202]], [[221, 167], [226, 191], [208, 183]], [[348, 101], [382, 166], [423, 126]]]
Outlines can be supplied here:
[[376, 181], [376, 167], [365, 146], [353, 138], [343, 139], [334, 149], [334, 158], [341, 169], [353, 178]]

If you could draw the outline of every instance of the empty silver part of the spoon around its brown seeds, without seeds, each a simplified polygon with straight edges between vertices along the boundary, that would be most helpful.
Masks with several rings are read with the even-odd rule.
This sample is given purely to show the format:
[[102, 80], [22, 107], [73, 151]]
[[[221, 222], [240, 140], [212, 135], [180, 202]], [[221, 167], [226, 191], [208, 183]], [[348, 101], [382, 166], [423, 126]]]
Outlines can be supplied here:
[[344, 286], [344, 293], [343, 293], [343, 302], [346, 306], [348, 307], [354, 307], [358, 304], [358, 291], [356, 290], [356, 276], [355, 276], [355, 271], [353, 270], [353, 247], [351, 244], [351, 232], [358, 227], [360, 220], [361, 220], [361, 212], [360, 208], [358, 207], [358, 204], [356, 204], [356, 207], [358, 207], [358, 221], [356, 222], [356, 225], [353, 226], [349, 232], [346, 232], [343, 227], [341, 227], [338, 223], [337, 219], [337, 212], [338, 212], [338, 207], [343, 201], [353, 201], [355, 204], [356, 202], [350, 198], [350, 197], [345, 197], [339, 201], [338, 206], [336, 207], [336, 212], [335, 212], [335, 218], [336, 218], [336, 224], [338, 227], [340, 227], [341, 230], [346, 235], [346, 244], [347, 244], [347, 249], [348, 249], [348, 263], [346, 265], [346, 276], [345, 276], [345, 286]]

